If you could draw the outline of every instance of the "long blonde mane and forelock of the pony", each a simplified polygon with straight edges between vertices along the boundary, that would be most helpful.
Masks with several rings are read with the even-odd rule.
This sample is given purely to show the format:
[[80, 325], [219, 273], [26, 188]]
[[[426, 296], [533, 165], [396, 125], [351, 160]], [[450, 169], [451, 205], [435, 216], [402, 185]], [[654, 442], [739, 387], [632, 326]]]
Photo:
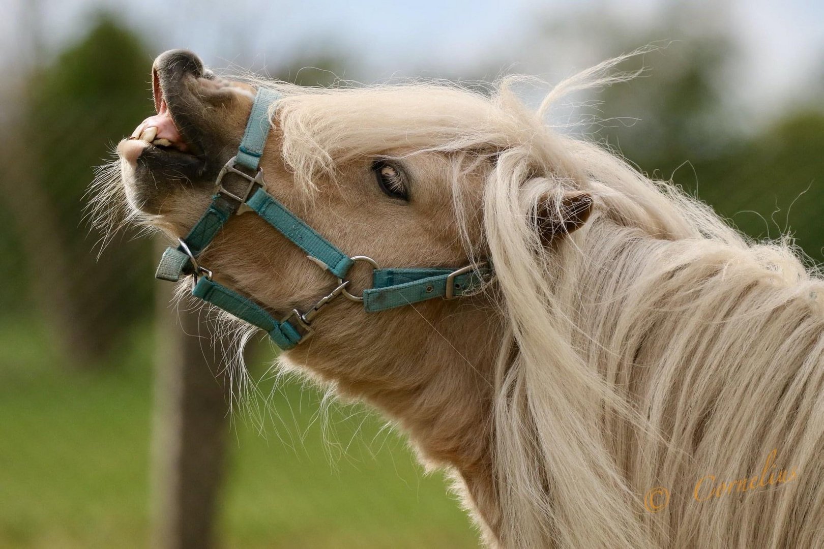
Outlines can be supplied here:
[[[440, 151], [470, 223], [461, 174], [494, 163], [483, 241], [463, 234], [468, 254], [494, 263], [489, 293], [507, 325], [492, 429], [503, 546], [818, 547], [824, 281], [789, 240], [748, 240], [672, 184], [546, 125], [560, 97], [624, 80], [605, 76], [620, 60], [562, 82], [537, 112], [513, 80], [489, 93], [255, 84], [285, 95], [283, 159], [308, 196], [341, 162]], [[595, 211], [546, 248], [536, 212], [569, 188]], [[751, 477], [772, 449], [794, 483], [693, 498], [700, 477]], [[655, 486], [672, 500], [653, 514], [644, 493]]]

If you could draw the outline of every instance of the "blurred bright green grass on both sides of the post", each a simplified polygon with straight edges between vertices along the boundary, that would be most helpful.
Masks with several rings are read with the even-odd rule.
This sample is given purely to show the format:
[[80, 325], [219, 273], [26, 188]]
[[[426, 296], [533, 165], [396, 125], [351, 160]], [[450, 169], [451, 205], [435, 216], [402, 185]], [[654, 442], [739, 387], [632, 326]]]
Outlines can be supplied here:
[[[0, 323], [0, 547], [147, 547], [151, 329], [96, 371], [66, 370], [49, 341], [34, 320]], [[442, 475], [375, 414], [333, 406], [329, 443], [319, 393], [275, 394], [265, 435], [233, 422], [222, 545], [477, 547]]]

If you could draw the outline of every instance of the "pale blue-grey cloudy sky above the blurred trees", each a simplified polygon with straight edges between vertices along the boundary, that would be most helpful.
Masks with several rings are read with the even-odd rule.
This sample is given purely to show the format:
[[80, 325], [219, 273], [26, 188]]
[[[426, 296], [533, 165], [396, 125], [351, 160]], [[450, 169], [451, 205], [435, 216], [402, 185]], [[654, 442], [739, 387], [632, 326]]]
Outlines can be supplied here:
[[[40, 27], [54, 51], [85, 30], [96, 10], [122, 16], [147, 36], [159, 52], [194, 49], [206, 63], [232, 63], [260, 70], [277, 67], [300, 50], [330, 48], [357, 60], [356, 74], [368, 81], [421, 73], [461, 75], [483, 67], [569, 73], [595, 63], [600, 52], [536, 56], [532, 37], [541, 27], [570, 17], [609, 14], [639, 27], [672, 7], [666, 0], [473, 0], [443, 2], [252, 2], [250, 0], [0, 0], [0, 49], [9, 56], [26, 44], [27, 26]], [[690, 2], [691, 5], [702, 2]], [[822, 0], [714, 0], [713, 8], [687, 26], [715, 26], [733, 37], [745, 56], [736, 67], [739, 91], [756, 105], [798, 95], [813, 78], [824, 76]], [[724, 6], [719, 9], [718, 6]], [[582, 15], [583, 14], [583, 15]], [[26, 23], [28, 19], [28, 23]], [[662, 36], [677, 39], [677, 36]], [[646, 40], [646, 35], [639, 40]], [[637, 44], [643, 45], [643, 44]], [[580, 46], [576, 46], [582, 49]], [[677, 44], [675, 45], [677, 47]], [[536, 67], [535, 58], [553, 67]], [[476, 72], [475, 72], [476, 74]]]

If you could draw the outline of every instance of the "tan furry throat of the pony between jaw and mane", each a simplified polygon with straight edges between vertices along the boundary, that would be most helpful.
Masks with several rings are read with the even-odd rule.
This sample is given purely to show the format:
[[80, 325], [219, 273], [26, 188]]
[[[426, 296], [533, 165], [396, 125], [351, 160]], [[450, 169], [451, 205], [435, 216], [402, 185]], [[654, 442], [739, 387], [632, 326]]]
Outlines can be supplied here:
[[424, 465], [450, 468], [456, 491], [491, 525], [494, 364], [504, 328], [485, 301], [433, 300], [384, 311], [380, 323], [358, 328], [352, 314], [330, 314], [321, 317], [330, 324], [319, 330], [322, 339], [293, 349], [287, 361], [396, 421]]

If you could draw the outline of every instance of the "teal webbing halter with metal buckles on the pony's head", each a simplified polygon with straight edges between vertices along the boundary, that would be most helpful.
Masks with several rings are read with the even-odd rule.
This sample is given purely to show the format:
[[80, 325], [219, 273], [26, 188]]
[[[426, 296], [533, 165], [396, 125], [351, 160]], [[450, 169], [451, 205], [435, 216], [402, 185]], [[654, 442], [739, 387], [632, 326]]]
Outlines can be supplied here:
[[[212, 203], [189, 234], [179, 240], [180, 245], [176, 248], [167, 248], [163, 252], [155, 274], [157, 278], [178, 281], [180, 277], [191, 275], [194, 280], [192, 295], [265, 330], [278, 347], [286, 350], [311, 336], [312, 320], [338, 295], [344, 295], [354, 301], [363, 301], [363, 309], [371, 313], [435, 297], [451, 300], [478, 288], [492, 277], [492, 269], [485, 263], [458, 269], [378, 268], [372, 258], [350, 258], [302, 219], [289, 212], [287, 207], [272, 195], [266, 193], [263, 170], [260, 170], [258, 165], [260, 156], [263, 155], [266, 137], [269, 136], [269, 109], [279, 97], [275, 91], [265, 88], [258, 90], [237, 155], [223, 166], [218, 179], [215, 180]], [[250, 175], [246, 170], [254, 175]], [[246, 191], [242, 195], [230, 193], [223, 187], [222, 182], [227, 174], [234, 174], [246, 180]], [[319, 300], [307, 312], [301, 313], [294, 309], [285, 318], [275, 320], [253, 300], [213, 281], [213, 273], [200, 265], [197, 258], [232, 216], [246, 212], [255, 212], [302, 249], [309, 259], [333, 274], [338, 280], [335, 290]], [[352, 295], [346, 290], [349, 285], [346, 274], [355, 261], [368, 262], [374, 268], [372, 288], [364, 290], [362, 296]]]

